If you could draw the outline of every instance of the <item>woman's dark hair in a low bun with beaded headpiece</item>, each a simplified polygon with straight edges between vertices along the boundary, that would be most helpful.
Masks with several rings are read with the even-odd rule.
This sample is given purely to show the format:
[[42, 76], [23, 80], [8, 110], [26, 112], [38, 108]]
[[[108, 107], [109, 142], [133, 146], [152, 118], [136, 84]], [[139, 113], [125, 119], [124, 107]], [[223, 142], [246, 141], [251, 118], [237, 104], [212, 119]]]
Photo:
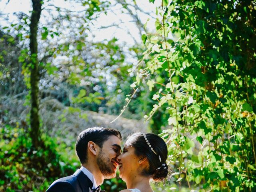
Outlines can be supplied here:
[[143, 170], [142, 174], [151, 176], [154, 181], [161, 181], [168, 174], [166, 159], [168, 155], [167, 146], [164, 140], [152, 133], [138, 132], [129, 138], [129, 145], [135, 148], [136, 156], [146, 157], [149, 167]]

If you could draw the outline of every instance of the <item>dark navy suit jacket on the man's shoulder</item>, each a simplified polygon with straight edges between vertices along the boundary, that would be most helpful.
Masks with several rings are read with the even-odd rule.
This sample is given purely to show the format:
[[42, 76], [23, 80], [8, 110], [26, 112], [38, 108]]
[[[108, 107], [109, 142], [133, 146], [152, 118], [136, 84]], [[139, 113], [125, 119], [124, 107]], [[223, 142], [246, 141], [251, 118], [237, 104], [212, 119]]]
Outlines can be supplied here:
[[89, 192], [92, 185], [91, 180], [78, 169], [73, 175], [54, 181], [46, 192]]

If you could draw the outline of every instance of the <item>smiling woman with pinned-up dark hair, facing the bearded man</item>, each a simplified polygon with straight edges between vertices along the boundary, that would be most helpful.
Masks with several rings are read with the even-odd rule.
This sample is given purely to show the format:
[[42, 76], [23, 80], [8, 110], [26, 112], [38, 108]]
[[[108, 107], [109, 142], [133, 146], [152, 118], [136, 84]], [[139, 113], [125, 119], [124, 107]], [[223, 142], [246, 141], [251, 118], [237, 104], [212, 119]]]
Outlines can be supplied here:
[[120, 192], [153, 192], [150, 179], [161, 181], [168, 174], [167, 155], [167, 146], [160, 136], [142, 132], [130, 136], [117, 158], [119, 176], [127, 186]]

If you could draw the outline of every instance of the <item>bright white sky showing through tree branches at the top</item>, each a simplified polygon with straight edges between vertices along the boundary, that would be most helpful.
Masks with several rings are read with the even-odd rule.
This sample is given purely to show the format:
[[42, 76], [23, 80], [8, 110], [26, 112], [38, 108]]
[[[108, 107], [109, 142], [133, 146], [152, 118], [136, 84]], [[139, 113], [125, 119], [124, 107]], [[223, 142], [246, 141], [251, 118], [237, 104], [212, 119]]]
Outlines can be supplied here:
[[[104, 39], [110, 40], [113, 37], [116, 37], [120, 43], [124, 42], [128, 45], [134, 44], [135, 41], [141, 42], [138, 26], [136, 26], [136, 24], [133, 22], [133, 19], [129, 13], [122, 9], [121, 4], [116, 4], [114, 0], [111, 0], [110, 2], [112, 8], [107, 10], [106, 14], [100, 14], [99, 18], [93, 22], [93, 25], [91, 26], [91, 33], [89, 34], [88, 38], [91, 40], [102, 41]], [[157, 2], [152, 4], [149, 3], [148, 0], [139, 0], [136, 3], [141, 10], [149, 13], [153, 18], [155, 17], [154, 11], [156, 6], [158, 6]], [[61, 8], [67, 8], [69, 10], [79, 11], [84, 9], [84, 7], [80, 6], [78, 3], [64, 2], [64, 0], [51, 0], [47, 3], [45, 2], [44, 8], [52, 9], [52, 7], [48, 6], [50, 4], [54, 4], [54, 6]], [[31, 10], [32, 7], [30, 0], [0, 1], [0, 13], [8, 14], [8, 22], [10, 23], [17, 19], [15, 15], [16, 12], [23, 12], [29, 16]], [[148, 18], [150, 18], [148, 14], [142, 13], [141, 11], [135, 10], [134, 8], [133, 12], [137, 12], [143, 24], [147, 22]], [[46, 12], [42, 11], [42, 14], [45, 13]], [[47, 17], [47, 14], [45, 15]], [[44, 20], [47, 19], [46, 17], [40, 18], [40, 21], [44, 22]], [[0, 24], [6, 24], [6, 22], [3, 22], [3, 18], [0, 20]], [[154, 21], [149, 20], [147, 22], [147, 27], [149, 30], [152, 30], [154, 28]]]

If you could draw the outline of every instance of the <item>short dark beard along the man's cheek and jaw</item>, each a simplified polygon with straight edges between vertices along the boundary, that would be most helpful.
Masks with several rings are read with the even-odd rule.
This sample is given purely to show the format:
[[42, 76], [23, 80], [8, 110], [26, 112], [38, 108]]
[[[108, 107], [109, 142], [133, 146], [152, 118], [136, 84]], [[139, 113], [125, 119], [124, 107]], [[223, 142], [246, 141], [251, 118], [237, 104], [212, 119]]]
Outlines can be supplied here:
[[115, 170], [112, 169], [112, 162], [108, 156], [100, 149], [99, 156], [96, 159], [101, 173], [106, 179], [114, 178], [116, 176]]

